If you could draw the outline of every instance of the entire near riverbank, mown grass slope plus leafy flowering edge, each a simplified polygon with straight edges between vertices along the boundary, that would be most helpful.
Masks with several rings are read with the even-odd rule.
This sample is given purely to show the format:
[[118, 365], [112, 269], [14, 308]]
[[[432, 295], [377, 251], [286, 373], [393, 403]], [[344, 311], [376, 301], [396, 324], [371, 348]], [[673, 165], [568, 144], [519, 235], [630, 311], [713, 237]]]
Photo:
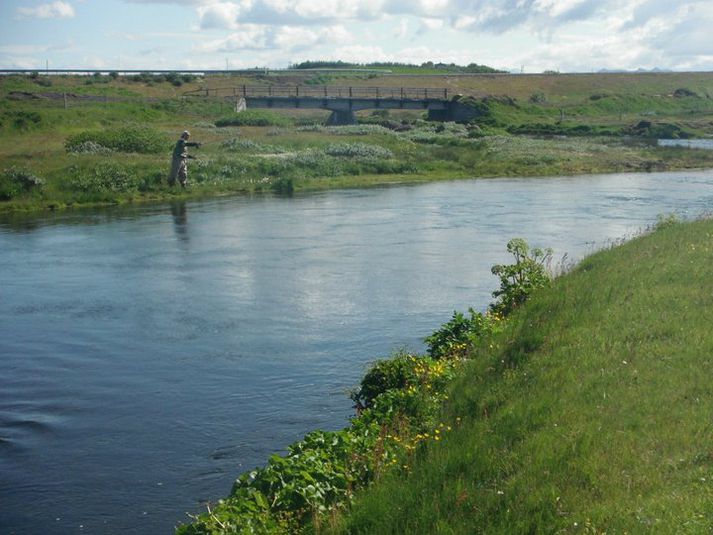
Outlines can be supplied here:
[[[487, 313], [374, 364], [351, 428], [178, 532], [710, 531], [713, 221], [661, 219], [553, 282], [547, 251], [509, 249]], [[539, 281], [524, 304], [518, 280]]]

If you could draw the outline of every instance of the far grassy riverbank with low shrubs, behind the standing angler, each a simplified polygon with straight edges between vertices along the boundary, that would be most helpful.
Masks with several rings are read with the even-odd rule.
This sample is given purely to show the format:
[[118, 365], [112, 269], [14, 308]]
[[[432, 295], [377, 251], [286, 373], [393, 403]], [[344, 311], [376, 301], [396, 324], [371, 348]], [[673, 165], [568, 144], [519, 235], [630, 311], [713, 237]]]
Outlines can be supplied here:
[[[710, 73], [319, 74], [327, 85], [448, 87], [480, 107], [471, 125], [381, 111], [361, 112], [367, 124], [327, 128], [328, 112], [319, 110], [235, 116], [225, 100], [180, 98], [201, 87], [313, 86], [314, 76], [0, 77], [0, 211], [713, 166], [713, 151], [653, 141], [713, 135]], [[169, 188], [166, 175], [172, 143], [185, 128], [204, 145], [192, 151], [197, 160], [183, 191]]]

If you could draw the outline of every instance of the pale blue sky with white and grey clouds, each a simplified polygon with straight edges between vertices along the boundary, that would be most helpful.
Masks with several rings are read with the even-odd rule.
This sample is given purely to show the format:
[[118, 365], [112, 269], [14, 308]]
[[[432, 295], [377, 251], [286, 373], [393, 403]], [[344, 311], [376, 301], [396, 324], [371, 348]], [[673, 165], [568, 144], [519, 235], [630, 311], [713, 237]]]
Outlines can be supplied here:
[[0, 68], [713, 71], [713, 0], [0, 0]]

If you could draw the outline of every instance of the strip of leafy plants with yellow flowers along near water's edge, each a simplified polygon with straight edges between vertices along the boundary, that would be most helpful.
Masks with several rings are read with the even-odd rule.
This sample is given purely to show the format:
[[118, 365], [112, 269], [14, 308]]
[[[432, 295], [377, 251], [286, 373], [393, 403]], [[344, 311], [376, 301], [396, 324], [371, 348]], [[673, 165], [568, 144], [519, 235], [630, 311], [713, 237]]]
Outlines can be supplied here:
[[399, 353], [374, 363], [352, 393], [357, 414], [337, 432], [314, 431], [241, 475], [230, 496], [182, 526], [183, 535], [320, 531], [356, 493], [389, 473], [407, 474], [423, 444], [453, 430], [440, 420], [451, 383], [470, 348], [499, 332], [507, 313], [550, 284], [549, 252], [508, 244], [515, 263], [493, 267], [501, 280], [488, 313], [469, 311], [426, 338], [427, 355]]

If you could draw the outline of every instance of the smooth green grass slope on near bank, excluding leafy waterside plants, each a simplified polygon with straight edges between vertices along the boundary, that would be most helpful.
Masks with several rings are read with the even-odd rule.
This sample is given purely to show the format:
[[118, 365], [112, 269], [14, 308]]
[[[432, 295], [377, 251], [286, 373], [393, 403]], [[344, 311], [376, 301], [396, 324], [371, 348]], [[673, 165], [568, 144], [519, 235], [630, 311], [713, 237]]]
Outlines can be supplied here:
[[472, 363], [348, 533], [710, 533], [713, 221], [584, 260]]

